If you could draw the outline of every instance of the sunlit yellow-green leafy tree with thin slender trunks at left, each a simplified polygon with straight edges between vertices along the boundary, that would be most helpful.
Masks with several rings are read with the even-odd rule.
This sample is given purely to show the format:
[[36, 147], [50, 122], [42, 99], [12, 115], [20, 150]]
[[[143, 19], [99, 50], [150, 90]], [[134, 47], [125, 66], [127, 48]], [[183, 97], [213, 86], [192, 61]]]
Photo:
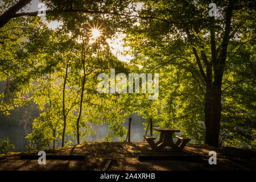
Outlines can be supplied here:
[[[53, 1], [52, 8], [56, 9], [58, 3], [60, 2]], [[3, 7], [5, 6], [4, 3]], [[18, 4], [14, 6], [18, 6]], [[101, 5], [97, 5], [96, 9], [100, 7]], [[63, 13], [62, 9], [59, 8], [59, 10]], [[11, 85], [7, 85], [6, 92], [2, 94], [1, 110], [7, 113], [8, 110], [14, 109], [14, 100], [15, 106], [26, 104], [23, 102], [24, 98], [27, 99], [27, 102], [33, 101], [38, 105], [38, 109], [42, 113], [39, 118], [35, 119], [33, 131], [27, 137], [31, 144], [36, 144], [37, 148], [47, 148], [51, 143], [55, 147], [55, 140], [60, 136], [62, 137], [61, 144], [64, 146], [65, 134], [74, 137], [75, 128], [77, 143], [80, 143], [80, 137], [84, 136], [80, 127], [84, 127], [84, 133], [88, 134], [92, 131], [86, 125], [87, 122], [102, 123], [108, 120], [102, 119], [102, 122], [96, 122], [95, 117], [99, 117], [99, 113], [104, 114], [102, 111], [88, 117], [88, 120], [86, 120], [85, 114], [90, 114], [89, 111], [95, 109], [95, 105], [102, 109], [102, 104], [104, 104], [106, 111], [109, 111], [109, 107], [111, 107], [103, 102], [105, 96], [99, 96], [95, 89], [97, 88], [98, 72], [106, 72], [109, 68], [123, 67], [106, 44], [106, 38], [115, 34], [113, 30], [117, 30], [118, 27], [108, 26], [114, 22], [113, 19], [105, 22], [105, 31], [107, 32], [105, 36], [89, 45], [91, 30], [88, 25], [91, 22], [86, 14], [75, 13], [72, 16], [61, 14], [60, 18], [63, 18], [65, 28], [55, 31], [47, 28], [40, 18], [34, 17], [36, 14], [27, 18], [23, 18], [23, 15], [16, 16], [13, 12], [9, 18], [14, 18], [14, 16], [19, 18], [10, 18], [9, 21], [4, 22], [5, 26], [1, 28], [1, 38], [4, 40], [1, 46], [5, 48], [1, 50], [1, 59], [3, 59], [1, 71], [5, 73], [5, 77], [1, 77], [1, 80], [8, 79], [9, 85]], [[1, 18], [6, 17], [7, 15], [1, 16]], [[51, 20], [51, 18], [59, 17], [50, 16], [49, 19]], [[96, 16], [94, 19], [98, 18], [102, 17]], [[69, 26], [70, 22], [74, 22], [74, 20], [77, 23], [73, 24], [74, 26]], [[84, 32], [80, 28], [81, 24], [85, 25]], [[69, 33], [71, 36], [68, 35]], [[80, 43], [81, 38], [85, 39], [85, 42]], [[10, 47], [10, 44], [13, 47]], [[68, 77], [68, 75], [70, 76]], [[85, 76], [89, 81], [85, 82]], [[60, 89], [63, 90], [62, 94], [58, 92]], [[32, 93], [32, 96], [28, 93]], [[9, 102], [5, 102], [6, 98]], [[106, 98], [106, 100], [108, 99]], [[109, 101], [111, 103], [111, 100]], [[111, 117], [115, 118], [114, 115]], [[110, 116], [105, 118], [110, 118]], [[76, 123], [76, 127], [74, 123]], [[115, 128], [112, 129], [117, 131]], [[123, 128], [121, 129], [123, 130]], [[118, 133], [115, 132], [115, 134]], [[30, 146], [31, 149], [33, 147], [33, 145]]]

